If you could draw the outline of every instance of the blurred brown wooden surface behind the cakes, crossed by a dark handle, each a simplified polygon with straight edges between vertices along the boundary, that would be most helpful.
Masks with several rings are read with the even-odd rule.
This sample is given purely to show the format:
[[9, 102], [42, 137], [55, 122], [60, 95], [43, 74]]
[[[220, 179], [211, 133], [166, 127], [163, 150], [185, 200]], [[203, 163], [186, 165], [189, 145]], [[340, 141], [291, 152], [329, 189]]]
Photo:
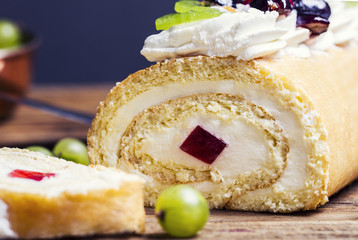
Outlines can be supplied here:
[[[93, 86], [39, 86], [29, 97], [60, 107], [95, 114], [112, 85]], [[29, 144], [53, 145], [63, 137], [86, 139], [89, 126], [71, 122], [48, 113], [19, 106], [12, 118], [0, 122], [0, 147]]]

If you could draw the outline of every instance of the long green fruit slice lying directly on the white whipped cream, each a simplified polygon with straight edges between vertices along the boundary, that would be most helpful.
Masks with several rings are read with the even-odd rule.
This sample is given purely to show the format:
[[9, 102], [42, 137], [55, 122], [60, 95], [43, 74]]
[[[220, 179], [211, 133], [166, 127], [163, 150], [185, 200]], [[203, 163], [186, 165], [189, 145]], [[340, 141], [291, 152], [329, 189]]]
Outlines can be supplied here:
[[155, 26], [158, 31], [168, 30], [170, 27], [175, 25], [214, 18], [222, 14], [222, 12], [220, 12], [217, 9], [212, 9], [212, 8], [207, 8], [207, 9], [208, 9], [207, 11], [203, 11], [203, 12], [189, 11], [183, 13], [170, 13], [164, 15], [163, 17], [158, 18], [155, 21]]

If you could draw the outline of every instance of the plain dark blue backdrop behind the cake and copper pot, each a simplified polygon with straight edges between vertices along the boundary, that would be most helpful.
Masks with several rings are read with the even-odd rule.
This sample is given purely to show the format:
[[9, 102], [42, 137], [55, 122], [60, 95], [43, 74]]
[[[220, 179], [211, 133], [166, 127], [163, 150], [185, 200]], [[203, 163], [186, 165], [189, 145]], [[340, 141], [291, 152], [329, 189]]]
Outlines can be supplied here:
[[174, 0], [0, 0], [0, 18], [35, 31], [36, 84], [117, 82], [150, 66], [141, 54]]

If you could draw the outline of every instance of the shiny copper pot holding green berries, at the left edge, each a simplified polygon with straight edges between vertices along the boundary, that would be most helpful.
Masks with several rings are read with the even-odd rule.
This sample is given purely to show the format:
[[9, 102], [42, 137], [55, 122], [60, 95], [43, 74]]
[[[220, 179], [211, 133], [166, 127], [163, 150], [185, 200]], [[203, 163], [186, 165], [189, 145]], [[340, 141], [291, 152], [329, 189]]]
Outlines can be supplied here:
[[[32, 55], [40, 41], [34, 34], [22, 33], [22, 45], [0, 49], [0, 91], [19, 97], [26, 94], [32, 80]], [[0, 100], [0, 120], [11, 116], [16, 105]]]

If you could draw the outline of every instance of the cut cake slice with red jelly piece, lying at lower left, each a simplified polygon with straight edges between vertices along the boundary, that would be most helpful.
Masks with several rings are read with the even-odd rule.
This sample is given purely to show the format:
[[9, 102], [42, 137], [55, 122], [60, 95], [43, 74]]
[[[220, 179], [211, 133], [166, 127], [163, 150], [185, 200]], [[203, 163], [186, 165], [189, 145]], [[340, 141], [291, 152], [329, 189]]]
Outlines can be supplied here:
[[0, 237], [144, 231], [143, 181], [22, 149], [0, 149]]

